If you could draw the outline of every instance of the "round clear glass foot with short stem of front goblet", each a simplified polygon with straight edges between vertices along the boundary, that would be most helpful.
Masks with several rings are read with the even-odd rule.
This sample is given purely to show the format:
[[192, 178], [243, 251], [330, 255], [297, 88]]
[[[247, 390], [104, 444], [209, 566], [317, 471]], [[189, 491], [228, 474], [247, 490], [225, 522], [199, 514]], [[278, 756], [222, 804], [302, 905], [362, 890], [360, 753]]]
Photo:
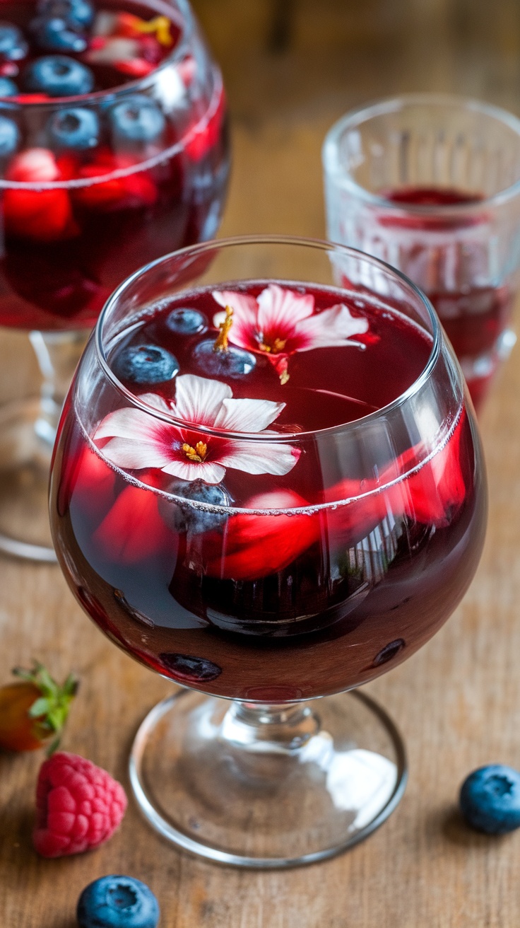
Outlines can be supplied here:
[[183, 690], [146, 715], [130, 777], [164, 838], [267, 869], [362, 841], [400, 802], [407, 765], [399, 731], [361, 692], [263, 706]]

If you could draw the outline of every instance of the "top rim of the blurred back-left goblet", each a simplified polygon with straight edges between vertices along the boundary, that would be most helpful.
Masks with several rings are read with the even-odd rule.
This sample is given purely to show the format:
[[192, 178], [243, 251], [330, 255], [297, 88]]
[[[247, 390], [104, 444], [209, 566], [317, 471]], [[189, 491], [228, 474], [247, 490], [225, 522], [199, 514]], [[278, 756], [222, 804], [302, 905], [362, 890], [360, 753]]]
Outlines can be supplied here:
[[[50, 100], [40, 100], [39, 102], [34, 100], [24, 102], [24, 100], [10, 100], [10, 97], [1, 97], [0, 105], [5, 107], [6, 110], [37, 110], [41, 112], [45, 110], [45, 108], [56, 110], [57, 105], [61, 106], [62, 103], [67, 106], [72, 103], [95, 103], [99, 100], [103, 100], [105, 97], [124, 97], [128, 92], [135, 93], [139, 90], [146, 90], [147, 87], [153, 85], [153, 77], [155, 74], [159, 73], [159, 71], [163, 71], [169, 65], [174, 64], [178, 59], [183, 58], [186, 48], [189, 48], [188, 40], [191, 38], [194, 31], [194, 14], [187, 0], [175, 0], [175, 3], [181, 7], [181, 16], [172, 18], [172, 21], [175, 22], [175, 25], [177, 25], [181, 31], [179, 40], [171, 49], [168, 58], [164, 58], [157, 68], [154, 68], [153, 71], [150, 71], [150, 73], [146, 74], [144, 77], [138, 77], [134, 81], [128, 81], [126, 84], [117, 84], [115, 87], [110, 87], [106, 90], [92, 90], [88, 94], [75, 94], [73, 97], [53, 97]], [[144, 5], [146, 6], [146, 0]], [[65, 55], [65, 52], [63, 54]]]

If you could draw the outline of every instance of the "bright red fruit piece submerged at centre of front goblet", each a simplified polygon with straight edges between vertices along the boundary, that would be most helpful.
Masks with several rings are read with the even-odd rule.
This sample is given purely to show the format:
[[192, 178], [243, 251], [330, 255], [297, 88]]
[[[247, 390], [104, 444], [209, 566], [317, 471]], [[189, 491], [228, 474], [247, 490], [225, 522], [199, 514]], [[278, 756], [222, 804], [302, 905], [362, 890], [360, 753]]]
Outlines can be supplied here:
[[[247, 509], [296, 509], [308, 505], [306, 499], [292, 490], [262, 493], [247, 501]], [[274, 574], [294, 561], [319, 536], [319, 514], [232, 516], [218, 542], [222, 554], [209, 561], [208, 574], [234, 580]]]

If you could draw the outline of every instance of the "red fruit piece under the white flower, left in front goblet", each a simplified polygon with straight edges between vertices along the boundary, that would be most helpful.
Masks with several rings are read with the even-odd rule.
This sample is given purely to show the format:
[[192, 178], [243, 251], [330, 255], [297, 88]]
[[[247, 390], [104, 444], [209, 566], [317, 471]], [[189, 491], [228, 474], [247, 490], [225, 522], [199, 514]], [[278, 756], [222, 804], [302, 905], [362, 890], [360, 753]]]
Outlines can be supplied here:
[[133, 564], [168, 548], [171, 535], [159, 515], [158, 496], [127, 486], [94, 534], [109, 561]]

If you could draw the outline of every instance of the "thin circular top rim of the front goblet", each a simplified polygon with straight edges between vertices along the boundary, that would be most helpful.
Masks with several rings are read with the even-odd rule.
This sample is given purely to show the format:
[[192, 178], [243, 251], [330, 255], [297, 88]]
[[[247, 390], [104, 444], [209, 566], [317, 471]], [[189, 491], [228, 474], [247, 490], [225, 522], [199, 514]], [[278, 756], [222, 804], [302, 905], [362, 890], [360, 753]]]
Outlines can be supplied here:
[[[152, 269], [159, 267], [160, 264], [168, 264], [171, 259], [178, 258], [182, 255], [192, 254], [197, 256], [198, 254], [203, 254], [205, 251], [222, 251], [226, 248], [251, 245], [285, 245], [300, 248], [311, 248], [319, 251], [336, 251], [340, 254], [348, 255], [349, 257], [353, 257], [358, 260], [361, 259], [361, 261], [372, 264], [375, 267], [384, 270], [386, 273], [389, 272], [391, 277], [399, 278], [400, 282], [404, 283], [408, 290], [411, 291], [412, 296], [419, 300], [419, 302], [422, 303], [422, 305], [425, 307], [432, 327], [432, 347], [425, 363], [425, 367], [423, 367], [420, 374], [415, 378], [415, 380], [413, 380], [410, 386], [408, 386], [407, 389], [403, 391], [403, 393], [400, 393], [399, 396], [395, 397], [395, 399], [393, 399], [391, 403], [388, 403], [387, 406], [382, 406], [380, 409], [375, 409], [373, 412], [367, 413], [366, 416], [361, 416], [360, 419], [354, 419], [350, 422], [329, 426], [326, 429], [314, 429], [307, 432], [270, 432], [269, 434], [264, 434], [262, 432], [229, 432], [222, 429], [214, 429], [209, 426], [197, 425], [197, 423], [186, 422], [184, 419], [178, 419], [156, 406], [149, 406], [147, 403], [144, 403], [139, 398], [139, 396], [137, 396], [135, 393], [132, 393], [132, 391], [128, 390], [124, 384], [121, 383], [121, 381], [116, 377], [112, 368], [108, 365], [107, 355], [105, 353], [103, 329], [105, 327], [107, 318], [110, 315], [110, 312], [117, 306], [120, 298], [124, 296], [125, 291], [128, 290], [139, 277], [143, 277], [144, 275], [148, 274]], [[158, 297], [158, 301], [159, 299], [160, 297]], [[384, 298], [381, 299], [383, 302]], [[360, 428], [364, 428], [367, 424], [369, 426], [372, 425], [377, 419], [386, 418], [389, 413], [392, 413], [395, 409], [403, 406], [423, 388], [437, 364], [441, 351], [441, 345], [443, 344], [442, 330], [440, 328], [440, 323], [438, 322], [438, 317], [436, 316], [432, 304], [425, 296], [425, 294], [415, 286], [412, 280], [410, 280], [404, 274], [401, 274], [401, 272], [395, 267], [392, 267], [390, 264], [387, 264], [384, 261], [380, 261], [378, 258], [374, 258], [372, 255], [365, 254], [363, 251], [349, 248], [347, 245], [336, 244], [335, 242], [325, 241], [320, 238], [298, 238], [294, 236], [278, 235], [248, 235], [210, 239], [207, 242], [200, 242], [197, 245], [186, 246], [185, 248], [179, 249], [178, 251], [171, 251], [170, 253], [157, 258], [155, 261], [145, 264], [143, 267], [134, 271], [130, 277], [126, 278], [126, 280], [123, 280], [120, 286], [109, 296], [108, 301], [105, 303], [103, 309], [101, 310], [101, 313], [95, 324], [93, 338], [95, 342], [97, 361], [105, 376], [108, 378], [112, 386], [116, 388], [118, 393], [120, 393], [124, 399], [130, 403], [131, 406], [142, 409], [144, 412], [146, 412], [147, 415], [151, 415], [156, 419], [167, 422], [176, 428], [186, 429], [186, 427], [188, 427], [191, 428], [192, 431], [200, 432], [201, 434], [223, 438], [228, 441], [251, 442], [256, 445], [259, 443], [262, 445], [280, 443], [289, 444], [294, 443], [295, 441], [301, 444], [305, 441], [308, 441], [315, 435], [322, 436], [353, 432], [355, 430], [359, 430]], [[214, 378], [209, 378], [209, 380], [211, 379]], [[102, 453], [102, 449], [100, 450]]]

